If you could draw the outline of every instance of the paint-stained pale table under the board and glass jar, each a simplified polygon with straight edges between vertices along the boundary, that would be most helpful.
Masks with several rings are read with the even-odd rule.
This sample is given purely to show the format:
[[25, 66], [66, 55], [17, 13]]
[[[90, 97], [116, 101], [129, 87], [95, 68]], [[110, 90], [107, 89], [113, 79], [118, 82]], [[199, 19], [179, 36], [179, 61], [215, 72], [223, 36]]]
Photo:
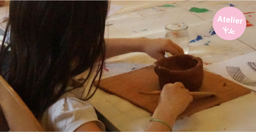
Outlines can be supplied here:
[[[115, 1], [112, 3], [115, 4]], [[190, 43], [189, 54], [202, 58], [204, 65], [255, 51], [255, 26], [246, 27], [241, 37], [231, 41], [223, 40], [213, 34], [212, 28], [213, 16], [219, 9], [234, 6], [243, 13], [254, 12], [256, 11], [255, 1], [181, 1], [176, 3], [170, 1], [164, 4], [170, 5], [165, 7], [159, 7], [159, 5], [152, 7], [151, 5], [151, 7], [140, 7], [141, 10], [134, 8], [135, 11], [133, 11], [130, 8], [130, 12], [116, 12], [116, 15], [107, 19], [107, 23], [112, 25], [106, 26], [106, 36], [162, 38], [164, 25], [184, 22], [189, 26], [190, 40], [197, 36], [203, 37], [200, 41]], [[191, 7], [206, 8], [209, 12], [191, 12], [189, 11]], [[253, 25], [256, 24], [255, 17], [256, 13], [245, 14], [246, 20]], [[103, 78], [146, 67], [155, 61], [145, 53], [116, 56], [106, 60], [107, 70]], [[104, 116], [100, 119], [111, 131], [143, 131], [151, 118], [149, 112], [100, 89], [88, 102]], [[178, 119], [173, 126], [173, 131], [255, 131], [255, 109], [256, 93], [252, 91], [250, 94], [219, 106]]]

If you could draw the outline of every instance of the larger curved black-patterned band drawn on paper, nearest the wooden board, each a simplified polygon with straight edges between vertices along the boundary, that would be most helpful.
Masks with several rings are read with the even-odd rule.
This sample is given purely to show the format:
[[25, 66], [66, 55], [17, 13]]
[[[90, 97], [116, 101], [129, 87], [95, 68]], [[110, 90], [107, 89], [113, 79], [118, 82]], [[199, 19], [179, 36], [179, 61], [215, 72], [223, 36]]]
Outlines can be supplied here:
[[236, 81], [248, 85], [248, 86], [256, 86], [256, 81], [253, 81], [246, 77], [240, 70], [240, 67], [227, 67], [228, 74]]

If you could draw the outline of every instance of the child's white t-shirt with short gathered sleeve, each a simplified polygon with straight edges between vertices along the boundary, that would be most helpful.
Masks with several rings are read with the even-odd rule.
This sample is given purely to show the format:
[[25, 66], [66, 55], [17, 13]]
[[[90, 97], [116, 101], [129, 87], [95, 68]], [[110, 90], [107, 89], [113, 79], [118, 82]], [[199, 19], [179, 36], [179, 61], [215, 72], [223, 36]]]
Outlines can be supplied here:
[[98, 120], [91, 104], [79, 99], [83, 90], [77, 88], [63, 94], [43, 114], [41, 124], [46, 131], [74, 131], [79, 126], [95, 121], [102, 131], [105, 126]]

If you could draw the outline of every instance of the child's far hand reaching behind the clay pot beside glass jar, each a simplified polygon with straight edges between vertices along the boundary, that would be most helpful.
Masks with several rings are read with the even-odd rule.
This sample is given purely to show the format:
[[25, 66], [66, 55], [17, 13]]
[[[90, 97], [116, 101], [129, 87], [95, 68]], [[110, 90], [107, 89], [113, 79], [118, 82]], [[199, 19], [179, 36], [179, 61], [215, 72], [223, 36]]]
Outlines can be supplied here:
[[184, 54], [183, 49], [177, 44], [173, 43], [170, 39], [141, 39], [145, 39], [141, 46], [142, 51], [150, 55], [152, 58], [164, 58], [165, 52], [169, 52], [172, 55]]

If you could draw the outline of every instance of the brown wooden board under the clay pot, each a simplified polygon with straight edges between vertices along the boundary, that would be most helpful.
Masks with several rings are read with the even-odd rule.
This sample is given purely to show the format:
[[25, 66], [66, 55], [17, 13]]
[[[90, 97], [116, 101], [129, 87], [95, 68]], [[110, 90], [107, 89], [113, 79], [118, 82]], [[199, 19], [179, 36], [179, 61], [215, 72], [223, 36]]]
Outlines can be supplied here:
[[[102, 79], [99, 87], [136, 104], [150, 113], [154, 113], [158, 105], [159, 95], [141, 95], [138, 92], [161, 90], [158, 84], [158, 76], [153, 66]], [[193, 100], [178, 118], [191, 115], [195, 112], [248, 94], [251, 90], [217, 74], [204, 70], [203, 85], [199, 91], [214, 92], [217, 96]]]

